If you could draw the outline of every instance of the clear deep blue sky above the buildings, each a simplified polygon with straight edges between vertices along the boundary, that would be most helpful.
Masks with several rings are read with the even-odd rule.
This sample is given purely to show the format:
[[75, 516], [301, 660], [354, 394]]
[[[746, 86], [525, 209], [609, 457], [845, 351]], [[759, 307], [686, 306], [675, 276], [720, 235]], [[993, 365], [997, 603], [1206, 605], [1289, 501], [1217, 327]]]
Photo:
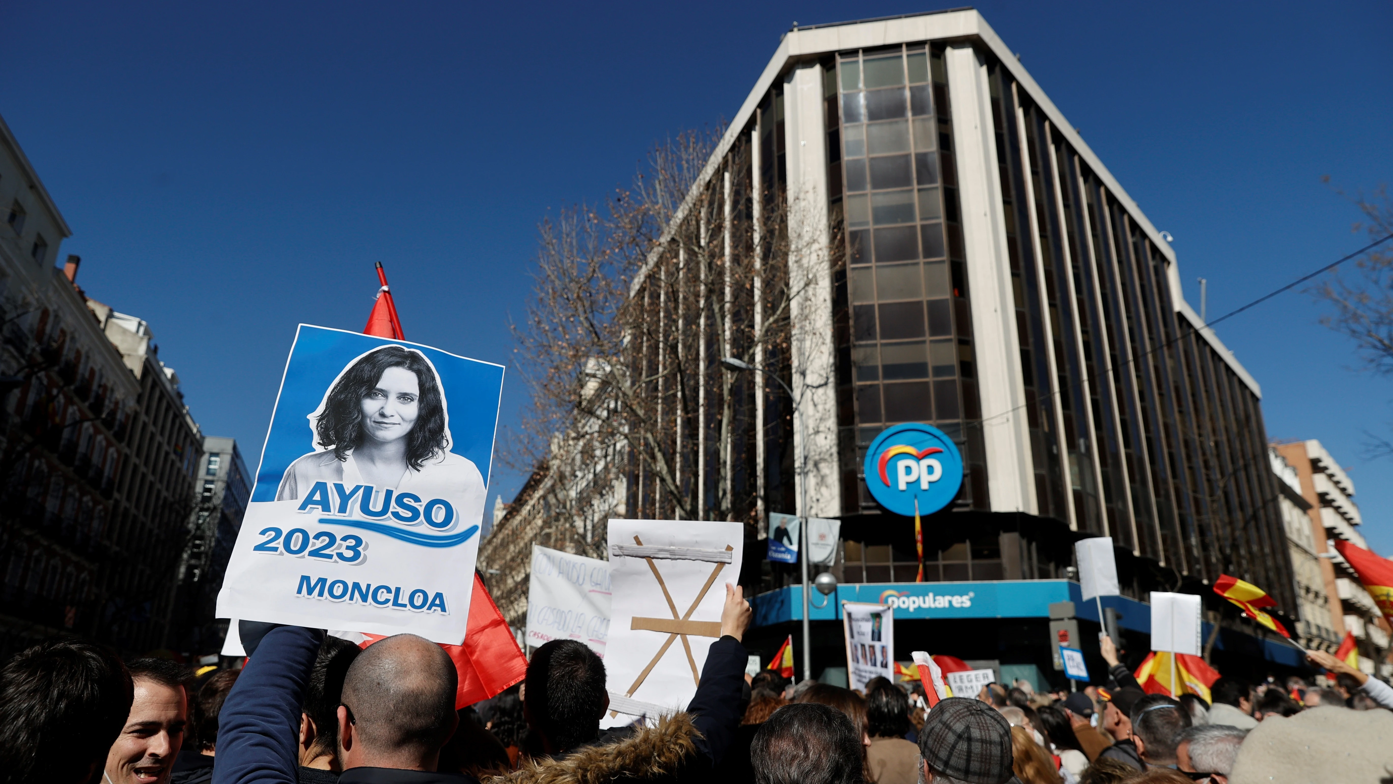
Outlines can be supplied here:
[[[1364, 244], [1321, 177], [1393, 172], [1387, 3], [976, 6], [1226, 312]], [[390, 273], [407, 336], [497, 363], [536, 222], [738, 109], [794, 21], [859, 3], [6, 3], [0, 114], [91, 296], [152, 324], [203, 431], [255, 467], [297, 322], [361, 329]], [[1273, 438], [1319, 438], [1393, 552], [1393, 379], [1289, 293], [1219, 328]], [[524, 389], [504, 384], [503, 423]], [[521, 477], [495, 474], [511, 497]]]

